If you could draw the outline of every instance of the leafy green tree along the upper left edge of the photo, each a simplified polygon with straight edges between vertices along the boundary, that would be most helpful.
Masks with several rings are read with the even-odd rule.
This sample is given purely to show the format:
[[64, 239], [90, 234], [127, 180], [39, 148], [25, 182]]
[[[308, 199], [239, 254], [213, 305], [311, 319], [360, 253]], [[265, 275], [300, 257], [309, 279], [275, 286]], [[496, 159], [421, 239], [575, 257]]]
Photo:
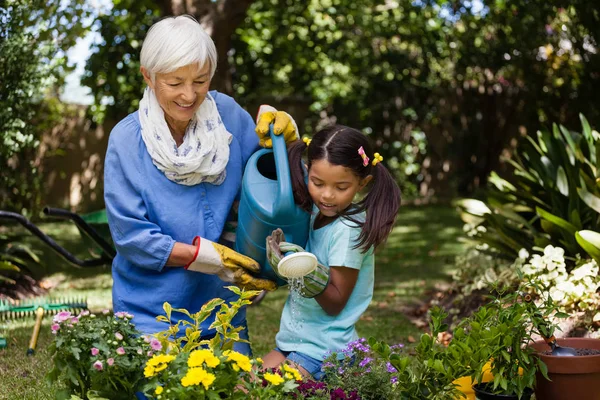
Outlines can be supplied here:
[[86, 30], [84, 0], [7, 0], [0, 8], [0, 206], [35, 205], [39, 183], [34, 150], [46, 127], [48, 90], [62, 86], [71, 68], [66, 50]]

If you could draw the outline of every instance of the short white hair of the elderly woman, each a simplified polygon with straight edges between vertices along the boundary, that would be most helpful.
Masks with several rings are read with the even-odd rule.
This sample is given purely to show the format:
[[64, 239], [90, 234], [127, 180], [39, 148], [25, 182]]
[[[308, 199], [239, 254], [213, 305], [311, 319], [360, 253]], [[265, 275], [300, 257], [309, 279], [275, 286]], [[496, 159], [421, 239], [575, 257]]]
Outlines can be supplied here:
[[181, 67], [210, 64], [212, 79], [217, 69], [217, 49], [212, 38], [191, 15], [164, 18], [150, 27], [142, 51], [140, 64], [150, 73], [166, 74]]

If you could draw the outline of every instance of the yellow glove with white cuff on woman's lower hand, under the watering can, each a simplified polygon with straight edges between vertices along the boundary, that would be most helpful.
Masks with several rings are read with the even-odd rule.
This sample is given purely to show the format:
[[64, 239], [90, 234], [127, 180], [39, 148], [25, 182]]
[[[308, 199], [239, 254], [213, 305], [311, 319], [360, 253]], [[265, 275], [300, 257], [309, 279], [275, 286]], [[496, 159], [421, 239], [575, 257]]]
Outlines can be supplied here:
[[246, 290], [277, 289], [275, 282], [250, 274], [260, 272], [260, 265], [250, 257], [200, 236], [194, 238], [193, 244], [196, 246], [196, 256], [185, 266], [188, 271], [217, 275], [222, 281]]

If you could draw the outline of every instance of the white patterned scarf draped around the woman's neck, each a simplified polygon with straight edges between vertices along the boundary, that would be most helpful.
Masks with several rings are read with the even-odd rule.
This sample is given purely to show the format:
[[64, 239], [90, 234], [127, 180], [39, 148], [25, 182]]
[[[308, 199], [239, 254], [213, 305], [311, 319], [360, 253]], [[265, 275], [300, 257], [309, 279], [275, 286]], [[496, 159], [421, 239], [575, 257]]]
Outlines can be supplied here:
[[152, 162], [180, 185], [201, 182], [220, 185], [226, 177], [231, 133], [225, 129], [217, 104], [207, 93], [177, 147], [154, 91], [146, 87], [139, 108], [142, 138]]

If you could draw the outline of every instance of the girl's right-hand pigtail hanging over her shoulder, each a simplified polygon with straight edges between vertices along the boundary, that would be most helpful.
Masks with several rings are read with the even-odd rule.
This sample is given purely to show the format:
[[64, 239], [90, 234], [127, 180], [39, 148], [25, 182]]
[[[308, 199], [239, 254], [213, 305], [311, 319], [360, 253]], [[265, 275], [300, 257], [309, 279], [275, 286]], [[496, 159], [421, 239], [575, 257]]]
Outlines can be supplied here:
[[394, 227], [401, 201], [398, 184], [381, 162], [373, 166], [372, 174], [369, 193], [360, 202], [360, 208], [366, 210], [367, 216], [356, 247], [365, 250], [386, 241]]

